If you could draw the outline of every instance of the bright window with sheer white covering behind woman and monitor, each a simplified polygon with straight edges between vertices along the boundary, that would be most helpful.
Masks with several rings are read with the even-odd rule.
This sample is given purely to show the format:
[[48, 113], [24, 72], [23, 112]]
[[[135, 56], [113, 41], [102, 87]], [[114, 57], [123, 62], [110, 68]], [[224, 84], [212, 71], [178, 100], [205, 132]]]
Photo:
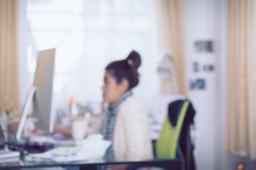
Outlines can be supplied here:
[[160, 92], [155, 0], [28, 0], [26, 6], [27, 75], [32, 84], [38, 50], [57, 48], [56, 109], [70, 97], [81, 104], [102, 101], [106, 65], [135, 49], [142, 65], [133, 92], [150, 112]]

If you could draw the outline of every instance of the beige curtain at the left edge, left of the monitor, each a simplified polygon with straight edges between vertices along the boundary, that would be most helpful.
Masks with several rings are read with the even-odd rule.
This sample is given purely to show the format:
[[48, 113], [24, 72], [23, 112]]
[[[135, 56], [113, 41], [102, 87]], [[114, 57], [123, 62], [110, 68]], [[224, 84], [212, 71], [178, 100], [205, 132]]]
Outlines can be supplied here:
[[0, 0], [0, 107], [10, 111], [10, 117], [20, 114], [18, 54], [18, 0]]

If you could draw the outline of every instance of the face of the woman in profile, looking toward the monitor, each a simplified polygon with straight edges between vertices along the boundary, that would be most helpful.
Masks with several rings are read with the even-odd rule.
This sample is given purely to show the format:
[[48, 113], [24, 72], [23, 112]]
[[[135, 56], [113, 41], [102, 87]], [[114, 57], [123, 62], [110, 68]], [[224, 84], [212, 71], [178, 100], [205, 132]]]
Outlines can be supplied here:
[[112, 76], [109, 71], [105, 71], [104, 75], [104, 84], [101, 87], [103, 90], [103, 99], [106, 103], [114, 103], [123, 95], [127, 90], [127, 87], [124, 87], [124, 83], [117, 83], [117, 80]]

